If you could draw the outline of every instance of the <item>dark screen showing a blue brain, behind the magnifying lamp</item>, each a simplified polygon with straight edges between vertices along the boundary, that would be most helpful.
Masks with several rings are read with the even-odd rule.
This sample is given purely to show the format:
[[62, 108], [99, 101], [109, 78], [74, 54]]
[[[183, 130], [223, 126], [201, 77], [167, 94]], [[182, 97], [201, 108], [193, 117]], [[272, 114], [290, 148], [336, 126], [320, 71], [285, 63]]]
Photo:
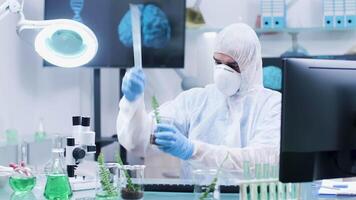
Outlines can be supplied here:
[[45, 0], [44, 18], [73, 19], [93, 30], [99, 47], [86, 67], [128, 68], [134, 65], [131, 3], [141, 10], [143, 67], [183, 68], [185, 0]]

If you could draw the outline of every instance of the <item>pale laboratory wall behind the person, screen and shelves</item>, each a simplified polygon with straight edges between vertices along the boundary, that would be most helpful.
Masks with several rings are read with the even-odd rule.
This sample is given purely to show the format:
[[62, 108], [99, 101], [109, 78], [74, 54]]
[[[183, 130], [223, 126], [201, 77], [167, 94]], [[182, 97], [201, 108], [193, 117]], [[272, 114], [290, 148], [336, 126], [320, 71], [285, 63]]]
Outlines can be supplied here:
[[[0, 3], [4, 0], [0, 0]], [[188, 1], [188, 6], [194, 1]], [[321, 0], [299, 0], [291, 7], [288, 21], [295, 27], [321, 24]], [[254, 25], [259, 12], [258, 0], [203, 1], [202, 12], [207, 26], [223, 27], [243, 21]], [[303, 15], [300, 13], [303, 12]], [[43, 0], [27, 0], [28, 18], [41, 19]], [[43, 68], [41, 59], [31, 45], [15, 33], [17, 17], [10, 15], [0, 21], [0, 133], [16, 128], [25, 138], [31, 138], [40, 118], [50, 133], [70, 132], [70, 117], [75, 114], [92, 116], [92, 74], [89, 69]], [[187, 32], [185, 71], [199, 76], [203, 83], [212, 81], [214, 34]], [[313, 54], [343, 53], [353, 45], [355, 32], [301, 33], [302, 46]], [[291, 45], [287, 34], [262, 36], [264, 56], [276, 56]], [[148, 77], [146, 100], [156, 94], [161, 102], [174, 98], [180, 89], [180, 79], [173, 70], [145, 70]], [[102, 133], [115, 133], [118, 111], [117, 69], [102, 72]], [[1, 141], [0, 134], [0, 141]]]

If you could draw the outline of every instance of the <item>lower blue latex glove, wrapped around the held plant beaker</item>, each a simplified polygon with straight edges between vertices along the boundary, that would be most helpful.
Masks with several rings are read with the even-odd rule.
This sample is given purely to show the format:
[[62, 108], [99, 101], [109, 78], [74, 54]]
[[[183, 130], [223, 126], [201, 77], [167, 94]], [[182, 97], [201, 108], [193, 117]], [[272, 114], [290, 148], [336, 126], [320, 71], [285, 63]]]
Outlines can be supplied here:
[[183, 160], [188, 160], [194, 152], [193, 143], [179, 132], [174, 126], [158, 124], [155, 130], [158, 148]]

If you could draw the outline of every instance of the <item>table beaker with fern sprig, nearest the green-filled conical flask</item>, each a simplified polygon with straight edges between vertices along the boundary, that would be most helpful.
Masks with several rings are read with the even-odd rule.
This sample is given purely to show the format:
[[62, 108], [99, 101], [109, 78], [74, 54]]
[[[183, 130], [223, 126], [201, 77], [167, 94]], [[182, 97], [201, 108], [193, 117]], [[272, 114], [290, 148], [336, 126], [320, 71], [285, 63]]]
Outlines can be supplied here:
[[119, 168], [117, 163], [105, 163], [98, 166], [96, 175], [95, 199], [118, 199]]

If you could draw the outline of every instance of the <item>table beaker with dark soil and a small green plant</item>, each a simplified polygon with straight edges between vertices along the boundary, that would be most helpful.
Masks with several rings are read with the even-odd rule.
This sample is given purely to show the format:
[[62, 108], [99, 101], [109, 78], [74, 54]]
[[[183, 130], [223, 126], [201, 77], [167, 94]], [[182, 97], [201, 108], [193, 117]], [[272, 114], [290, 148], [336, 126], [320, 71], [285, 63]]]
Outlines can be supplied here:
[[145, 167], [144, 165], [124, 165], [119, 167], [122, 199], [143, 199]]

